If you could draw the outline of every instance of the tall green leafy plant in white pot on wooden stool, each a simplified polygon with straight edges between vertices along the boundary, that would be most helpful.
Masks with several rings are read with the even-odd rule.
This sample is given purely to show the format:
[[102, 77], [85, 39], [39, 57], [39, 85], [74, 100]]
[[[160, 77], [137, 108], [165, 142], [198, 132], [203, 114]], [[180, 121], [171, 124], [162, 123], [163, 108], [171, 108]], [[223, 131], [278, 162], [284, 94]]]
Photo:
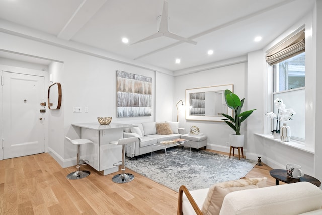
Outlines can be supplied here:
[[225, 90], [225, 100], [227, 106], [232, 109], [234, 113], [233, 117], [227, 114], [222, 114], [227, 118], [223, 120], [236, 132], [236, 134], [230, 134], [229, 143], [234, 147], [243, 147], [244, 135], [241, 135], [240, 133], [241, 122], [249, 117], [256, 109], [241, 112], [245, 98], [240, 100], [239, 97], [230, 90]]

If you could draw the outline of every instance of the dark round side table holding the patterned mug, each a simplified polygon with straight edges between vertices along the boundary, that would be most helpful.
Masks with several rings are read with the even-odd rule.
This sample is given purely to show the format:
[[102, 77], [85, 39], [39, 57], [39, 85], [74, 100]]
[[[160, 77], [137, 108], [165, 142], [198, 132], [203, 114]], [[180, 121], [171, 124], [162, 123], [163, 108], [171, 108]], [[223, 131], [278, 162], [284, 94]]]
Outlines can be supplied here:
[[279, 181], [285, 182], [287, 184], [307, 181], [318, 187], [321, 186], [321, 182], [318, 179], [306, 174], [304, 174], [304, 176], [300, 177], [299, 179], [290, 178], [287, 176], [286, 170], [277, 169], [277, 170], [270, 170], [270, 175], [276, 179], [276, 183], [275, 183], [276, 185], [279, 185]]

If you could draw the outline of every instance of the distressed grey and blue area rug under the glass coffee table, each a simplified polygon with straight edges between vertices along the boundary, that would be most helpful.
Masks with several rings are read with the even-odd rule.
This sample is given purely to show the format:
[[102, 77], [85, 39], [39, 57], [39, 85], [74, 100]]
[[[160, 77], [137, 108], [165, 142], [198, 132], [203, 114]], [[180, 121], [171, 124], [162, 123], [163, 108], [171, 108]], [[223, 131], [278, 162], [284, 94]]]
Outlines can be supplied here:
[[137, 160], [129, 159], [126, 168], [178, 192], [181, 185], [189, 190], [209, 188], [211, 185], [244, 177], [257, 162], [229, 158], [205, 150], [189, 148], [167, 149], [146, 154]]

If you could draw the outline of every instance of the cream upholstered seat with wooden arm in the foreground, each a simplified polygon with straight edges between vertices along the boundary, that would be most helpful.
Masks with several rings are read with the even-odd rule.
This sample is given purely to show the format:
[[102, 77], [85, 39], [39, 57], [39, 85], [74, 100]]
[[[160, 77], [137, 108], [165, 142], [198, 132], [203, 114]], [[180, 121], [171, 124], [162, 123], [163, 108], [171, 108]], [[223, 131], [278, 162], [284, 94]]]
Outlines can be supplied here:
[[[233, 182], [235, 185], [224, 185], [224, 182], [219, 183], [219, 187], [214, 185], [190, 192], [182, 186], [178, 214], [322, 214], [322, 190], [309, 182], [262, 187], [253, 182], [247, 182], [246, 186], [241, 182], [244, 184], [239, 186], [239, 180], [236, 181]], [[190, 196], [190, 201], [187, 196]]]

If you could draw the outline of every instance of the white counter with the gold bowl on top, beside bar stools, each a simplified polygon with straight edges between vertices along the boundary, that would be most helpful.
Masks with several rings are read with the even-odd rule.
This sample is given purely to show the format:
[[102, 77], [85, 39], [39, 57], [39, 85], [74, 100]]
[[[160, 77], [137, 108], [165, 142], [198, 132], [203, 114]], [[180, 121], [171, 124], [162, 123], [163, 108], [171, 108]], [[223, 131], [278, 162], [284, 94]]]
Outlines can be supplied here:
[[100, 125], [98, 122], [73, 123], [71, 125], [81, 128], [81, 138], [93, 142], [85, 149], [88, 155], [86, 159], [89, 160], [89, 165], [103, 175], [117, 172], [119, 167], [113, 166], [113, 164], [122, 160], [122, 146], [109, 143], [123, 138], [124, 128], [137, 127], [137, 125], [119, 123]]

